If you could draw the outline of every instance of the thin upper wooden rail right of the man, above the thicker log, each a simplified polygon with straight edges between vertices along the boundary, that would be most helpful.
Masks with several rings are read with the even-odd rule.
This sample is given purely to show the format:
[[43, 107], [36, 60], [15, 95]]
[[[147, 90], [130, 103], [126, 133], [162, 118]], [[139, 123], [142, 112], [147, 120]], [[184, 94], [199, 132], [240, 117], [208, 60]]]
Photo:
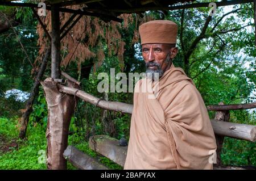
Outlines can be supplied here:
[[229, 105], [212, 105], [207, 106], [207, 110], [209, 111], [223, 111], [223, 110], [247, 110], [256, 108], [255, 103], [248, 104], [229, 104]]

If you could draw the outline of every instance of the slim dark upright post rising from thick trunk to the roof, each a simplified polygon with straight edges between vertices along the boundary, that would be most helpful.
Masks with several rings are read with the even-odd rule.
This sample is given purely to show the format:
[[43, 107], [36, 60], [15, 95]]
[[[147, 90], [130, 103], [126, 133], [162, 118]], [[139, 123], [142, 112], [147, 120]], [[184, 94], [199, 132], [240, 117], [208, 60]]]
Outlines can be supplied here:
[[51, 7], [52, 16], [52, 64], [51, 77], [53, 79], [60, 78], [60, 14], [59, 7], [53, 5]]

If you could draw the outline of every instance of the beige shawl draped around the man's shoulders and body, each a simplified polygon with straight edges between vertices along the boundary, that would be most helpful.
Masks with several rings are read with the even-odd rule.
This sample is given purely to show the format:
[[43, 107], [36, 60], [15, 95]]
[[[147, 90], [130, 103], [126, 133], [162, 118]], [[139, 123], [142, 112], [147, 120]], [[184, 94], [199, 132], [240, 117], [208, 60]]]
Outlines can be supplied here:
[[135, 85], [124, 169], [212, 169], [216, 140], [193, 81], [172, 64], [156, 84], [158, 94], [152, 82], [151, 91], [138, 92], [146, 82]]

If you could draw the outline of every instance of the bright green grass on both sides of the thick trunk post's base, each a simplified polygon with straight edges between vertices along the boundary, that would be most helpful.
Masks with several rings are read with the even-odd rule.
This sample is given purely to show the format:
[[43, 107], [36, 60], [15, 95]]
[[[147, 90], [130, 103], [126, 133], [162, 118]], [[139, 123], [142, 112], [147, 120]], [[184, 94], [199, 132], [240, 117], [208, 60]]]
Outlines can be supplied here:
[[[0, 152], [1, 170], [42, 170], [47, 169], [45, 161], [46, 153], [46, 131], [40, 124], [30, 124], [27, 129], [27, 139], [18, 139], [18, 119], [0, 118], [0, 135], [6, 141], [15, 140], [19, 148], [11, 149], [5, 153]], [[3, 143], [1, 143], [3, 144]], [[0, 146], [1, 146], [0, 144]], [[109, 167], [109, 169], [122, 169], [121, 166], [110, 161], [108, 158], [99, 157], [95, 151], [89, 148], [88, 142], [79, 134], [69, 136], [69, 145], [76, 146], [77, 149], [97, 158], [98, 161]], [[76, 169], [68, 162], [68, 169]]]

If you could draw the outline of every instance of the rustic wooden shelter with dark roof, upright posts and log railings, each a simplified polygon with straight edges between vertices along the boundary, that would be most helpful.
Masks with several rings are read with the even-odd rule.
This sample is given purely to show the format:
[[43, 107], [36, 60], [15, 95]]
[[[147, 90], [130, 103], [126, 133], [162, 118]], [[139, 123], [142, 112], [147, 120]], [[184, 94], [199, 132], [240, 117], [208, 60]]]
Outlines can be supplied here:
[[[35, 1], [42, 2], [42, 1]], [[51, 41], [51, 78], [47, 78], [44, 82], [41, 82], [44, 91], [46, 92], [46, 100], [48, 104], [48, 124], [47, 124], [47, 167], [48, 169], [66, 169], [67, 163], [63, 157], [67, 157], [74, 165], [77, 165], [80, 169], [105, 169], [104, 166], [91, 165], [88, 166], [93, 159], [88, 158], [84, 154], [80, 153], [79, 150], [75, 150], [72, 153], [72, 148], [67, 148], [68, 130], [73, 110], [76, 106], [76, 100], [78, 98], [84, 99], [86, 102], [92, 103], [96, 106], [104, 108], [106, 110], [121, 111], [123, 113], [131, 113], [133, 106], [125, 103], [108, 102], [106, 100], [98, 99], [86, 92], [81, 91], [80, 82], [76, 81], [69, 75], [61, 73], [60, 69], [60, 47], [61, 39], [67, 35], [73, 26], [78, 22], [79, 17], [82, 15], [96, 16], [102, 20], [108, 22], [110, 20], [116, 22], [122, 22], [122, 19], [118, 18], [118, 15], [123, 13], [137, 13], [142, 15], [142, 12], [148, 10], [161, 10], [166, 13], [168, 10], [177, 9], [189, 9], [196, 7], [208, 7], [209, 3], [195, 3], [190, 1], [183, 4], [184, 0], [51, 0], [43, 1], [46, 3], [46, 9], [51, 10], [51, 23], [52, 32], [49, 33], [46, 30], [45, 25], [40, 20], [34, 8], [39, 8], [37, 3], [20, 3], [10, 0], [0, 0], [0, 5], [5, 6], [19, 6], [19, 7], [32, 7], [35, 16], [38, 18], [39, 23], [43, 26], [44, 31], [48, 39]], [[193, 3], [192, 3], [193, 2]], [[210, 2], [210, 1], [209, 1]], [[221, 1], [216, 2], [218, 6], [236, 5], [241, 3], [254, 2], [255, 0], [232, 0], [232, 1]], [[177, 3], [179, 3], [177, 5]], [[68, 9], [67, 6], [71, 5], [86, 5], [81, 10]], [[256, 7], [254, 8], [254, 12]], [[60, 12], [67, 12], [72, 14], [71, 18], [60, 27]], [[254, 19], [256, 19], [254, 13]], [[256, 37], [255, 37], [256, 45]], [[49, 51], [48, 51], [49, 54]], [[67, 85], [63, 85], [61, 74], [68, 80]], [[229, 110], [238, 110], [243, 108], [255, 108], [256, 103], [243, 104], [243, 105], [220, 105], [208, 107], [208, 110], [218, 111], [216, 119], [212, 120], [214, 133], [217, 137], [218, 145], [218, 162], [220, 163], [220, 151], [224, 136], [235, 137], [242, 140], [248, 140], [255, 142], [256, 127], [253, 125], [242, 125], [235, 123], [224, 123], [229, 119]], [[108, 141], [106, 141], [108, 143]], [[106, 153], [105, 145], [98, 145], [98, 148], [94, 148], [102, 155], [109, 157]], [[109, 145], [113, 145], [113, 142], [109, 142]], [[93, 147], [92, 147], [93, 148]], [[113, 148], [114, 149], [114, 148]], [[105, 150], [102, 151], [102, 150]], [[119, 152], [118, 152], [119, 151]], [[72, 154], [80, 155], [77, 161], [72, 159]], [[125, 154], [125, 150], [117, 150], [115, 153]], [[116, 157], [109, 157], [113, 161], [120, 165], [123, 165], [123, 155]], [[74, 157], [75, 158], [75, 157]], [[87, 160], [88, 159], [88, 160]], [[80, 163], [85, 161], [84, 163]], [[86, 161], [87, 160], [87, 161]], [[89, 161], [89, 162], [88, 162]], [[84, 166], [86, 165], [86, 166]]]

